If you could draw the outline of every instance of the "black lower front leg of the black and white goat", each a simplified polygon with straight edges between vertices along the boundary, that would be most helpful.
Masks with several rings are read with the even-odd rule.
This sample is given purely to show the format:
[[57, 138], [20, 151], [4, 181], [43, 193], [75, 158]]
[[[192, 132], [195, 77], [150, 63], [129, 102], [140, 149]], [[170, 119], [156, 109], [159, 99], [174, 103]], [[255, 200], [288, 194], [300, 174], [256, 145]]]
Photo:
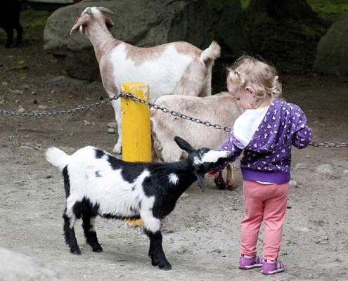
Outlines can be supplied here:
[[162, 248], [162, 233], [160, 230], [153, 233], [150, 230], [145, 229], [145, 233], [150, 238], [150, 249], [148, 254], [151, 258], [152, 265], [158, 266], [163, 270], [171, 270], [172, 266], [170, 265], [169, 261], [167, 261], [165, 252]]

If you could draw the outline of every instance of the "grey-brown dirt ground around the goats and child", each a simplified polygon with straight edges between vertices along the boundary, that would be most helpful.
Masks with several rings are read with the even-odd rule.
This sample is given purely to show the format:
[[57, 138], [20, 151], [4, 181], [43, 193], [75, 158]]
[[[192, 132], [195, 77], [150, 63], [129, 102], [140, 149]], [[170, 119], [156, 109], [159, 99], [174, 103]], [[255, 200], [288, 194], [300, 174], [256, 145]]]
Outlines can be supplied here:
[[[0, 46], [0, 109], [63, 110], [105, 97], [101, 83], [62, 74], [41, 42]], [[280, 79], [285, 98], [307, 113], [314, 141], [348, 142], [348, 79], [314, 74]], [[113, 116], [111, 105], [60, 117], [0, 114], [0, 247], [31, 256], [61, 280], [348, 280], [348, 148], [294, 148], [280, 256], [284, 273], [265, 277], [237, 267], [243, 218], [238, 168], [236, 190], [217, 190], [207, 179], [205, 192], [193, 185], [163, 221], [169, 272], [151, 266], [148, 238], [122, 221], [97, 221], [103, 253], [86, 246], [77, 223], [82, 255], [70, 254], [63, 239], [63, 178], [44, 152], [51, 145], [66, 152], [85, 145], [111, 152], [116, 136], [107, 125]]]

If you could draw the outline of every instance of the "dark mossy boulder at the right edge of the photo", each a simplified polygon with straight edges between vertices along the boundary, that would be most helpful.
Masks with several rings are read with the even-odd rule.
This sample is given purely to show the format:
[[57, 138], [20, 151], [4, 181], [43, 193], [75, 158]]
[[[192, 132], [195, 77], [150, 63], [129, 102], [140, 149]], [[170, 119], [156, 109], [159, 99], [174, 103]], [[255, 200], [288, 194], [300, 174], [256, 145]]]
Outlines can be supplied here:
[[348, 13], [329, 28], [318, 44], [314, 71], [348, 76]]

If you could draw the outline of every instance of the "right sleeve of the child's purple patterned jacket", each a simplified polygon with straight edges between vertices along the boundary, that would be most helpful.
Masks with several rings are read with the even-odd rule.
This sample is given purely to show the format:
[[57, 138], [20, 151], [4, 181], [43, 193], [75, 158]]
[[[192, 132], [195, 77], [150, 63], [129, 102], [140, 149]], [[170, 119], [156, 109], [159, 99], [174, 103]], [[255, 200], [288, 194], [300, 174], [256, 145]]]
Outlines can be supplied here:
[[296, 148], [306, 148], [311, 142], [312, 131], [307, 126], [307, 118], [304, 112], [298, 107], [295, 112], [297, 122], [295, 124], [294, 138], [292, 139], [292, 145]]

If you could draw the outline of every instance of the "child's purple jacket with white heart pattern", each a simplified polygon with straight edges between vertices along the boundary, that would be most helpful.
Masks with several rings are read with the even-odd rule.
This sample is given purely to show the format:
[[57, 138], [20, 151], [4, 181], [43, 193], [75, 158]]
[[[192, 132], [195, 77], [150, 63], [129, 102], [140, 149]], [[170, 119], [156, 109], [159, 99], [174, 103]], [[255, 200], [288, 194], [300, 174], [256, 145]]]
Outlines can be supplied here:
[[[219, 150], [232, 152], [229, 162], [236, 161], [244, 150], [240, 168], [245, 181], [288, 183], [291, 146], [305, 148], [312, 138], [312, 131], [306, 121], [299, 106], [283, 100], [273, 100], [250, 143], [246, 146], [240, 143], [232, 129], [231, 135]], [[221, 171], [227, 163], [214, 171]]]

